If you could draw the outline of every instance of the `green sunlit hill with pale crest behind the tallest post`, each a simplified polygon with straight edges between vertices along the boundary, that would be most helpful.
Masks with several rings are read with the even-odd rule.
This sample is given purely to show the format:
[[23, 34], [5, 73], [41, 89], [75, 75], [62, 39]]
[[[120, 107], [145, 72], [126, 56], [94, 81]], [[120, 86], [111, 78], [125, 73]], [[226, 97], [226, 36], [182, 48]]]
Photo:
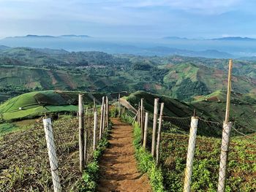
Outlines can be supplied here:
[[[256, 131], [255, 97], [256, 94], [231, 94], [230, 121], [244, 133]], [[200, 115], [222, 121], [225, 118], [226, 98], [226, 91], [215, 91], [208, 96], [197, 97], [192, 106], [197, 107]]]

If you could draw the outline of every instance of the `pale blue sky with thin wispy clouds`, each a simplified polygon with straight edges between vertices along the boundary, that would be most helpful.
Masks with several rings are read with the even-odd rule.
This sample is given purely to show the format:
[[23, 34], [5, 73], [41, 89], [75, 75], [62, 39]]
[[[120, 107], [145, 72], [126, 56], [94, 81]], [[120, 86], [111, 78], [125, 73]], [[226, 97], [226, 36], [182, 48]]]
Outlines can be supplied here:
[[255, 0], [0, 0], [0, 37], [256, 37]]

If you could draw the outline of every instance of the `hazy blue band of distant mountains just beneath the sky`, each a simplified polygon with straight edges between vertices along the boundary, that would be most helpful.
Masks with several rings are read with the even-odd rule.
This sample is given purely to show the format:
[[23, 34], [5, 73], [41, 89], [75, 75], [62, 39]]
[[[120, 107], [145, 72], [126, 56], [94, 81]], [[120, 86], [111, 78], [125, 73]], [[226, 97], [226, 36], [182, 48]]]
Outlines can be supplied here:
[[[132, 55], [183, 55], [206, 58], [240, 58], [256, 56], [256, 39], [249, 37], [223, 37], [219, 39], [187, 39], [163, 37], [162, 39], [104, 39], [88, 35], [60, 36], [29, 34], [23, 37], [0, 39], [8, 47], [49, 48], [67, 51], [102, 51]], [[233, 42], [232, 45], [226, 42]], [[1, 46], [0, 49], [7, 47]]]

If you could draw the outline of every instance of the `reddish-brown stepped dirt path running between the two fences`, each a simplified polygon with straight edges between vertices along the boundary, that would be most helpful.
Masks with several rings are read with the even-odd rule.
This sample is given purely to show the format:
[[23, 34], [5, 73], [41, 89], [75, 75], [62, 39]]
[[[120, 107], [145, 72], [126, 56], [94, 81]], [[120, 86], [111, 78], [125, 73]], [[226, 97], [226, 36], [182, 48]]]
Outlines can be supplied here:
[[100, 179], [97, 191], [151, 191], [146, 174], [137, 169], [132, 145], [132, 126], [112, 119], [110, 147], [99, 163]]

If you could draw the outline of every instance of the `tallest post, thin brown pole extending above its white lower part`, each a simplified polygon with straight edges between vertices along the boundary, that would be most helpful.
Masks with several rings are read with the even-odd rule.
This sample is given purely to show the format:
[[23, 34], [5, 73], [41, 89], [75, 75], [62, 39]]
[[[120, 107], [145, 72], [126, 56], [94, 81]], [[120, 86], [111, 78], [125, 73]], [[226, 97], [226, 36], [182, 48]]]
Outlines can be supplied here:
[[225, 122], [223, 123], [223, 129], [222, 129], [222, 147], [221, 147], [220, 161], [219, 161], [218, 192], [225, 192], [227, 157], [228, 157], [228, 148], [230, 144], [230, 131], [232, 127], [232, 123], [229, 122], [232, 67], [233, 67], [233, 61], [232, 59], [230, 59], [229, 68], [228, 68], [228, 80], [227, 80], [227, 104], [226, 104]]

